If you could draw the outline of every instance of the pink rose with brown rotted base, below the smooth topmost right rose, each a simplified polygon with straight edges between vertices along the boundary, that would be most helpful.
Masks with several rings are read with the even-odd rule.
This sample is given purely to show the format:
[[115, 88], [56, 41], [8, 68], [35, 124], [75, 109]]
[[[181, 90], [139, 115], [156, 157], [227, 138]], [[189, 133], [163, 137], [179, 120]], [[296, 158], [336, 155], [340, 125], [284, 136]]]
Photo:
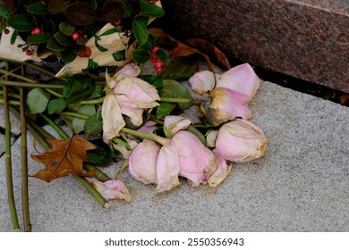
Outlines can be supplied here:
[[209, 105], [209, 123], [218, 125], [232, 121], [235, 117], [247, 120], [251, 118], [251, 110], [246, 104], [246, 96], [226, 87], [216, 87], [211, 93]]

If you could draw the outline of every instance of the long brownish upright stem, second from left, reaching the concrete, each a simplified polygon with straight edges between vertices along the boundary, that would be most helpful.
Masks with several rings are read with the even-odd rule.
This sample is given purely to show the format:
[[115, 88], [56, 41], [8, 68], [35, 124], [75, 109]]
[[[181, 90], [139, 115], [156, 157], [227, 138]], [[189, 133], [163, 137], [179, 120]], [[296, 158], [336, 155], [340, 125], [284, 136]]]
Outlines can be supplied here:
[[27, 150], [27, 120], [25, 116], [24, 89], [20, 88], [21, 96], [21, 210], [24, 231], [31, 231], [30, 204], [28, 188], [28, 150]]

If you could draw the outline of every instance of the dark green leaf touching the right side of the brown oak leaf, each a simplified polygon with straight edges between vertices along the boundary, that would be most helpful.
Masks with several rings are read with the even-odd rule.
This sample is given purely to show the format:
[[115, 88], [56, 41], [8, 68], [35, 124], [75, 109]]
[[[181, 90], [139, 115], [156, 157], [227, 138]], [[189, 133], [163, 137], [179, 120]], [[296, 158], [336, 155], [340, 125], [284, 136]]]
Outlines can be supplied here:
[[113, 150], [102, 139], [91, 141], [92, 144], [98, 146], [95, 149], [87, 150], [89, 162], [98, 166], [108, 166], [114, 157]]

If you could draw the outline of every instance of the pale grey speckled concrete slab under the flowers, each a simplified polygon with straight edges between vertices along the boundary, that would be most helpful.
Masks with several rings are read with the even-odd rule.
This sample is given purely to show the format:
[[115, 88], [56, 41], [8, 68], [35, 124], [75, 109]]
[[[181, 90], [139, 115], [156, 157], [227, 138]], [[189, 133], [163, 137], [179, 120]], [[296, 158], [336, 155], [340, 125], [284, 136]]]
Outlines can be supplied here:
[[[234, 165], [219, 187], [182, 180], [158, 195], [124, 171], [133, 202], [104, 209], [72, 177], [48, 184], [30, 178], [33, 231], [349, 231], [349, 109], [262, 82], [251, 110], [268, 136], [266, 154]], [[13, 127], [20, 132], [18, 122]], [[20, 142], [13, 143], [13, 179], [21, 221]], [[30, 173], [42, 168], [30, 159]], [[3, 155], [0, 231], [12, 231], [4, 169]], [[104, 171], [114, 176], [115, 166]]]

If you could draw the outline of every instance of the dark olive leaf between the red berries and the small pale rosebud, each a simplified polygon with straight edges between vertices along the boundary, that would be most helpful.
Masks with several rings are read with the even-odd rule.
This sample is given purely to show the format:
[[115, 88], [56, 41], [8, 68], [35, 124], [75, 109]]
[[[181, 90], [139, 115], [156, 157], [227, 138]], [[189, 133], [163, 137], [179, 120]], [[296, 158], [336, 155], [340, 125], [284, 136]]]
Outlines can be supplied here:
[[196, 71], [198, 71], [198, 65], [196, 63], [192, 63], [186, 57], [178, 56], [171, 58], [158, 75], [164, 79], [182, 81], [189, 79]]

